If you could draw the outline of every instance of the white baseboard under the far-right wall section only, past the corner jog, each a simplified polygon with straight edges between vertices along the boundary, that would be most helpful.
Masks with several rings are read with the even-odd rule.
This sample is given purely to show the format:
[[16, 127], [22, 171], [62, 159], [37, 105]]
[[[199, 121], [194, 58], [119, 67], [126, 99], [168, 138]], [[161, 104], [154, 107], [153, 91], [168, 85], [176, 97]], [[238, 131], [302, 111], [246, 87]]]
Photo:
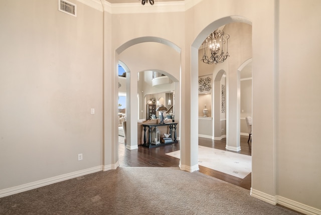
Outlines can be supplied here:
[[293, 201], [288, 198], [284, 198], [282, 196], [277, 195], [276, 196], [277, 203], [281, 204], [283, 206], [286, 206], [288, 208], [291, 208], [293, 210], [299, 211], [304, 214], [321, 214], [321, 209], [317, 209], [315, 207], [308, 206], [306, 204], [302, 204], [297, 201]]

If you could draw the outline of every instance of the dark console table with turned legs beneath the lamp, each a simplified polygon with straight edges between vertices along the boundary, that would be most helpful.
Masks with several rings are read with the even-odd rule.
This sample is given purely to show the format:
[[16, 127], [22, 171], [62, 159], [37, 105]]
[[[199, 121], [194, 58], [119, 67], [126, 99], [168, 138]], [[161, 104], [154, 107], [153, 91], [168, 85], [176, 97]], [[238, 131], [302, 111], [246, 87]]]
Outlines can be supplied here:
[[[144, 144], [143, 146], [148, 147], [148, 148], [154, 148], [158, 146], [164, 146], [164, 145], [169, 145], [173, 143], [177, 143], [177, 133], [176, 133], [176, 128], [177, 128], [178, 123], [166, 123], [166, 124], [142, 124], [144, 127]], [[159, 127], [159, 126], [169, 126], [170, 127], [170, 133], [172, 137], [172, 142], [169, 143], [161, 143], [161, 144], [151, 144], [151, 129], [154, 127]], [[146, 135], [146, 130], [148, 128], [148, 143], [147, 143], [147, 135]]]

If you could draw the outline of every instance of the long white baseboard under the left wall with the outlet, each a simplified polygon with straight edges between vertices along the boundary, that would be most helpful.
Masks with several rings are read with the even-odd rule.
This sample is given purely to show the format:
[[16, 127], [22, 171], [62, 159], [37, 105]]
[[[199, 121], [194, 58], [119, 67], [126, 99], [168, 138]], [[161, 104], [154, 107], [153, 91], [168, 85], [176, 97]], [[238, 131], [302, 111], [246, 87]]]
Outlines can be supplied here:
[[75, 172], [71, 172], [71, 173], [67, 173], [67, 174], [63, 174], [63, 175], [58, 175], [55, 177], [23, 184], [23, 185], [19, 185], [19, 186], [15, 186], [15, 187], [10, 187], [7, 189], [0, 190], [0, 198], [8, 196], [8, 195], [13, 195], [16, 193], [24, 192], [24, 191], [36, 189], [38, 187], [47, 186], [47, 185], [54, 184], [54, 183], [57, 183], [60, 181], [65, 181], [65, 180], [69, 180], [72, 178], [77, 178], [77, 177], [91, 174], [94, 172], [99, 172], [101, 170], [102, 170], [102, 166], [100, 165], [100, 166], [91, 167], [88, 169], [83, 169], [83, 170], [79, 170], [79, 171], [75, 171]]

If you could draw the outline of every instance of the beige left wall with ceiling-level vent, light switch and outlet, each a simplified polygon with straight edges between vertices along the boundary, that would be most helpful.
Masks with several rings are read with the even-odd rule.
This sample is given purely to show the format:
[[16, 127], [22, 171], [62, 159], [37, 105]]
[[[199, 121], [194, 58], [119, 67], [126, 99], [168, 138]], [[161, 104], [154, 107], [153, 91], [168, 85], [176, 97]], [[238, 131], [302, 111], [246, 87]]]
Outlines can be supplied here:
[[0, 1], [0, 190], [101, 169], [102, 13], [57, 8]]

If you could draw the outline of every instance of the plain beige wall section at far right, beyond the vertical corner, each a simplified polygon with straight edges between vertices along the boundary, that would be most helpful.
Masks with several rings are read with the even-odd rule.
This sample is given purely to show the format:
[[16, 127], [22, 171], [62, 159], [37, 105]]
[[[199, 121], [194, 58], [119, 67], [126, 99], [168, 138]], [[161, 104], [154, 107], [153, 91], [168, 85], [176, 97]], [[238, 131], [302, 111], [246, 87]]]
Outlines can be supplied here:
[[[321, 150], [321, 2], [309, 1], [306, 6], [305, 1], [280, 1], [279, 10], [275, 64], [278, 194], [321, 208], [321, 185], [316, 181], [321, 178], [317, 166]], [[307, 33], [299, 51], [292, 47], [296, 38], [290, 37], [297, 34], [297, 26]]]

